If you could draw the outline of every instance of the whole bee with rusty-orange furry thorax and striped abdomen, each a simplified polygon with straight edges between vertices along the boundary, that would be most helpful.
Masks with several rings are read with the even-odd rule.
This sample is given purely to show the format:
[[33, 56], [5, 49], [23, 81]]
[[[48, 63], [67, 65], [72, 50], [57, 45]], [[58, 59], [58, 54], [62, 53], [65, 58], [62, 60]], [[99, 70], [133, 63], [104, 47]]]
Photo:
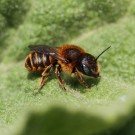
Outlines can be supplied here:
[[111, 46], [102, 51], [97, 57], [87, 53], [76, 45], [63, 45], [61, 47], [49, 47], [46, 45], [30, 45], [30, 54], [25, 59], [25, 68], [28, 71], [41, 71], [42, 78], [37, 89], [45, 85], [46, 79], [51, 71], [54, 71], [59, 84], [66, 90], [61, 72], [69, 73], [76, 77], [86, 88], [88, 84], [83, 75], [100, 77], [98, 58]]

